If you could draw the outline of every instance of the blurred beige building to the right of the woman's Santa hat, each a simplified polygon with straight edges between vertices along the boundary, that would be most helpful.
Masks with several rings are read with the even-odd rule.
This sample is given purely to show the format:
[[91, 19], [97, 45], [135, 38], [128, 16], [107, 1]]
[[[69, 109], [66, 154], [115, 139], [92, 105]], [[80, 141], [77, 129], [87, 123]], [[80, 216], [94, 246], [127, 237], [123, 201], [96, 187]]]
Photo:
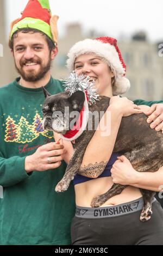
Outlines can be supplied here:
[[149, 43], [145, 33], [137, 33], [131, 41], [120, 42], [120, 48], [131, 84], [126, 96], [131, 99], [163, 99], [163, 57], [159, 57], [158, 45]]

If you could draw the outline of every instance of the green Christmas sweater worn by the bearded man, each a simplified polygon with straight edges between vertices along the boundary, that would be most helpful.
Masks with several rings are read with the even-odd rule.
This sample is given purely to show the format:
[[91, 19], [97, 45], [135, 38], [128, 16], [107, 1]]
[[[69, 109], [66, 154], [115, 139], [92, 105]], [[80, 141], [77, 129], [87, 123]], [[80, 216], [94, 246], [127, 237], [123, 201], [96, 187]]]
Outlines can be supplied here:
[[[45, 98], [41, 88], [17, 81], [0, 88], [0, 245], [70, 245], [74, 188], [54, 191], [66, 164], [30, 175], [24, 170], [26, 156], [54, 141], [42, 127]], [[64, 90], [52, 77], [45, 88], [51, 94]]]

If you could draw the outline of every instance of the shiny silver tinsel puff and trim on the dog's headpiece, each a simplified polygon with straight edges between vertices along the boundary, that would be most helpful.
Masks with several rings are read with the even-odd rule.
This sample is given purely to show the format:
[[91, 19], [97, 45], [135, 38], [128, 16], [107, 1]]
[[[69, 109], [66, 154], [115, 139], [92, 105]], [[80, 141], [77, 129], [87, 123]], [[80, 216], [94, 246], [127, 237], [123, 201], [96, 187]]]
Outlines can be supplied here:
[[97, 89], [94, 86], [94, 82], [90, 82], [90, 77], [85, 75], [77, 75], [75, 71], [72, 71], [67, 80], [64, 80], [66, 92], [69, 92], [72, 95], [77, 90], [87, 91], [87, 96], [89, 98], [89, 105], [96, 103], [98, 100]]

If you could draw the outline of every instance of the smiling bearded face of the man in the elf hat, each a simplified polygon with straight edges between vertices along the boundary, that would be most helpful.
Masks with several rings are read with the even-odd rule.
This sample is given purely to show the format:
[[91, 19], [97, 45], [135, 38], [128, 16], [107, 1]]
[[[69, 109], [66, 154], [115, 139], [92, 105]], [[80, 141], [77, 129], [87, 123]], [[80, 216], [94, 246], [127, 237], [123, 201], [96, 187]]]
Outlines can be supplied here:
[[57, 47], [49, 51], [46, 39], [40, 33], [19, 32], [14, 39], [15, 66], [28, 82], [39, 81], [46, 75], [57, 52]]

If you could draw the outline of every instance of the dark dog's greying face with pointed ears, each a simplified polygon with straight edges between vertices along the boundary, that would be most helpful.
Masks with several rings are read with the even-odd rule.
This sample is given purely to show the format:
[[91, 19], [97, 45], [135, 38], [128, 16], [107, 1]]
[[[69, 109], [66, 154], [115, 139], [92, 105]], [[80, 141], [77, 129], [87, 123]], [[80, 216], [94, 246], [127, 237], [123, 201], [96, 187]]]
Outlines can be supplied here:
[[77, 114], [74, 123], [78, 119], [83, 108], [85, 95], [82, 91], [77, 91], [71, 96], [67, 92], [51, 95], [45, 88], [42, 87], [42, 89], [45, 94], [45, 101], [42, 106], [43, 129], [64, 135], [66, 131], [71, 129], [70, 123], [74, 119], [74, 111]]

